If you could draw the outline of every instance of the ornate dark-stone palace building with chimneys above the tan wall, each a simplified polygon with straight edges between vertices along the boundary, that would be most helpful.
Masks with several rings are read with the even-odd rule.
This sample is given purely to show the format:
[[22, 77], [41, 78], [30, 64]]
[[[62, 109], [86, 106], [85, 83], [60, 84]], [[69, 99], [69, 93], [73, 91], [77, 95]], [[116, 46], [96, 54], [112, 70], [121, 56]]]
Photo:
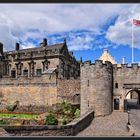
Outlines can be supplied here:
[[20, 49], [16, 43], [15, 50], [3, 52], [0, 44], [3, 72], [1, 77], [18, 78], [19, 76], [41, 76], [43, 73], [56, 72], [58, 78], [77, 78], [80, 74], [79, 62], [68, 51], [66, 40], [64, 43], [48, 45], [47, 39], [40, 43], [40, 47]]

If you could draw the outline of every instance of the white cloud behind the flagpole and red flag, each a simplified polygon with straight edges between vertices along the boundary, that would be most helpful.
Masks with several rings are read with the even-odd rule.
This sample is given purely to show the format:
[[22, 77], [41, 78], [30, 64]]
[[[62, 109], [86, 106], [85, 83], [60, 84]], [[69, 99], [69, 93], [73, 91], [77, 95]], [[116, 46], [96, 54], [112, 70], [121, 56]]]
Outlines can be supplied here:
[[[140, 20], [140, 6], [134, 5], [121, 14], [115, 25], [110, 26], [106, 37], [116, 44], [132, 45], [132, 18]], [[140, 26], [134, 27], [134, 47], [140, 49]]]

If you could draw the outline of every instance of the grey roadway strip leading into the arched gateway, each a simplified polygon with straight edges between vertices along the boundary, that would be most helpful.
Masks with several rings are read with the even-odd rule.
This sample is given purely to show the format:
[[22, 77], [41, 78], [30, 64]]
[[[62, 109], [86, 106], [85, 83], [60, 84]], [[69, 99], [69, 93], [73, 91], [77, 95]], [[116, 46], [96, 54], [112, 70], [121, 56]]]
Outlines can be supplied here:
[[140, 110], [131, 109], [129, 112], [129, 122], [133, 127], [135, 136], [140, 136]]

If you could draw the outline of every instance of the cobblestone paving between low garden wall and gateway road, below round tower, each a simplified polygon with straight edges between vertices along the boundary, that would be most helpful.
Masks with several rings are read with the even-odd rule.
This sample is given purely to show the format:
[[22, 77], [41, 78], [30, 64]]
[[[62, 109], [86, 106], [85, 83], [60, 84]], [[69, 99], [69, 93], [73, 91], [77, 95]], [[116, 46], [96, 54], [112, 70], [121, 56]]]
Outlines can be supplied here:
[[105, 117], [96, 117], [90, 126], [77, 136], [130, 136], [128, 127], [128, 113], [113, 112]]

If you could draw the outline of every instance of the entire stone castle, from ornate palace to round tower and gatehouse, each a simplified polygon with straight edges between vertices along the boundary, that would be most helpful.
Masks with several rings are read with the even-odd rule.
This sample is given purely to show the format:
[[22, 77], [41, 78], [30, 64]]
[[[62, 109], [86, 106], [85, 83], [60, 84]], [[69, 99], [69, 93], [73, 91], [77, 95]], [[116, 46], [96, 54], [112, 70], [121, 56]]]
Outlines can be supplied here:
[[[96, 60], [77, 61], [63, 43], [3, 52], [0, 43], [0, 109], [19, 101], [21, 106], [52, 106], [63, 100], [80, 103], [81, 114], [96, 116], [127, 110], [128, 99], [140, 99], [140, 66], [117, 64], [104, 51]], [[135, 96], [133, 95], [135, 94]]]

